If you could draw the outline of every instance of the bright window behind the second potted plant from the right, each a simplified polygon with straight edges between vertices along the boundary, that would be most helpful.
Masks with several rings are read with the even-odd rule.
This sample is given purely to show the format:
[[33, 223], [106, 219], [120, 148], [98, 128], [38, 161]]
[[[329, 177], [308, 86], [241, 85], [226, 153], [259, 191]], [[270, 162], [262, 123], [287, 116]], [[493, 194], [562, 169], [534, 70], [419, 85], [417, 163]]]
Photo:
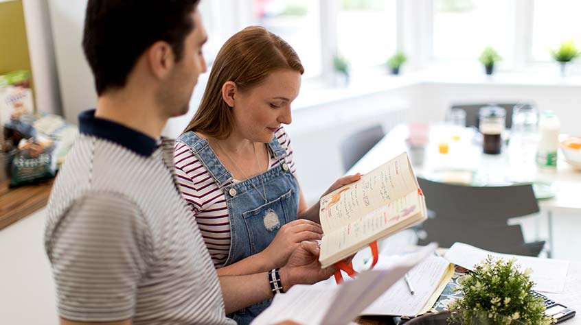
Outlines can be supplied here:
[[512, 52], [511, 10], [505, 0], [433, 1], [433, 56], [475, 60], [494, 47], [505, 60]]

